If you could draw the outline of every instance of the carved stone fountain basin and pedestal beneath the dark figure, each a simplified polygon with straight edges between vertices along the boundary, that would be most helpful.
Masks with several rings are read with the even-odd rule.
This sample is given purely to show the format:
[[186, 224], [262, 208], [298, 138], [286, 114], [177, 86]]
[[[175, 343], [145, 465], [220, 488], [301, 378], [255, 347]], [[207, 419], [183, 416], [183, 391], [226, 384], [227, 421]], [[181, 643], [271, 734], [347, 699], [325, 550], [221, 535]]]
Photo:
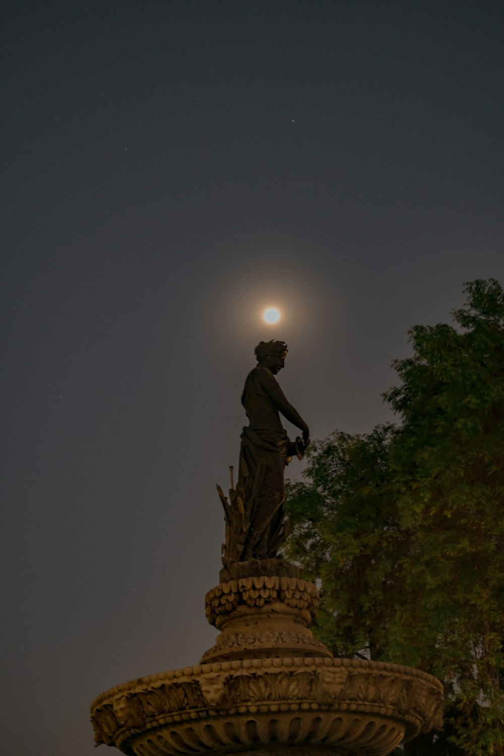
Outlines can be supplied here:
[[96, 699], [97, 744], [131, 756], [385, 756], [441, 726], [438, 680], [400, 665], [332, 658], [308, 629], [317, 588], [286, 562], [271, 574], [274, 561], [221, 571], [206, 596], [206, 615], [221, 633], [199, 665]]

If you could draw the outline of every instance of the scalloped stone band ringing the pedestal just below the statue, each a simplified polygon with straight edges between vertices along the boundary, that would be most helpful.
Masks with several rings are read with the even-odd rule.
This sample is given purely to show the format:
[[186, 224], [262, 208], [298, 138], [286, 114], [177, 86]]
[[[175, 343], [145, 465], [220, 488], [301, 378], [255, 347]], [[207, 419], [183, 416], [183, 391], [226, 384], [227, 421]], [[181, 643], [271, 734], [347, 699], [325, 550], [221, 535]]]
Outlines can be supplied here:
[[319, 593], [309, 581], [298, 578], [261, 575], [240, 578], [212, 588], [205, 596], [206, 618], [219, 628], [226, 615], [240, 606], [251, 609], [283, 604], [289, 609], [305, 610], [308, 613], [305, 624], [317, 614]]

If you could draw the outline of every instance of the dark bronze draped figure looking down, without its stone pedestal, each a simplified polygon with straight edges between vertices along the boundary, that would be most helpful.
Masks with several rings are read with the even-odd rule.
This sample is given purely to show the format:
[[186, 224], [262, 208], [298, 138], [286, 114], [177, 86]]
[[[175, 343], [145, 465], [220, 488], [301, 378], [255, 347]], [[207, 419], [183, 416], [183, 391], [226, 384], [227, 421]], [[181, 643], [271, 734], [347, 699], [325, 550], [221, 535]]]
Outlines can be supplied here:
[[[286, 353], [283, 341], [261, 341], [255, 348], [258, 364], [243, 387], [242, 404], [249, 426], [240, 436], [237, 487], [233, 488], [232, 467], [230, 501], [217, 487], [226, 520], [224, 567], [250, 559], [274, 559], [287, 535], [283, 473], [294, 455], [303, 458], [310, 431], [274, 378], [284, 367]], [[301, 430], [302, 439], [289, 440], [279, 413]]]

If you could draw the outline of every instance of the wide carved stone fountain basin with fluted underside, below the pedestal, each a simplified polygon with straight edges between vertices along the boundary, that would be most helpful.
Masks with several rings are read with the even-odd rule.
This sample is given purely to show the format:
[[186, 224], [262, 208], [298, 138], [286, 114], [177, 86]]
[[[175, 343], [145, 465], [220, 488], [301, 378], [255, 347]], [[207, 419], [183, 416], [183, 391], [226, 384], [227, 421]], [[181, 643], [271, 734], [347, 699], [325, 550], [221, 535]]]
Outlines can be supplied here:
[[100, 696], [91, 720], [97, 745], [129, 756], [385, 756], [441, 726], [441, 702], [438, 680], [400, 665], [264, 658], [141, 677]]

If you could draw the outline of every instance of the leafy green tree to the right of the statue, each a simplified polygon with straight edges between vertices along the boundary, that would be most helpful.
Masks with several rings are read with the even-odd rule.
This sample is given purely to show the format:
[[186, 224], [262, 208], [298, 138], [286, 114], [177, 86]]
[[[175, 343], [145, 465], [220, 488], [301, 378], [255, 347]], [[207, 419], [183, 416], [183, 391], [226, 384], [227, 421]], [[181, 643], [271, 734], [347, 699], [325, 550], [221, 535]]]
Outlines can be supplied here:
[[444, 731], [410, 754], [504, 754], [504, 291], [464, 291], [456, 327], [413, 327], [413, 356], [393, 363], [400, 423], [315, 442], [288, 488], [318, 637], [444, 683]]

